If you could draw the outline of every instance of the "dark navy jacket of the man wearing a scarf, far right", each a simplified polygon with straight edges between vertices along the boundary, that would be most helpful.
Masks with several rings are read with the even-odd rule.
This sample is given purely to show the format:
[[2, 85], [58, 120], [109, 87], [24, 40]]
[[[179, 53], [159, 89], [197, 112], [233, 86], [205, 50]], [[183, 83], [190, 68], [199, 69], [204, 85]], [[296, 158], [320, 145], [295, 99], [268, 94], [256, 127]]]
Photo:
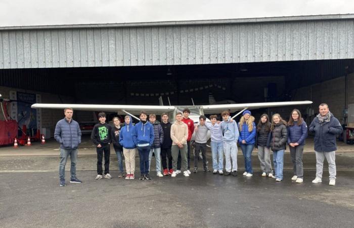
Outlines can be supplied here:
[[341, 134], [343, 128], [332, 113], [329, 122], [320, 123], [318, 117], [316, 117], [308, 130], [315, 133], [314, 146], [317, 152], [337, 150], [336, 135]]

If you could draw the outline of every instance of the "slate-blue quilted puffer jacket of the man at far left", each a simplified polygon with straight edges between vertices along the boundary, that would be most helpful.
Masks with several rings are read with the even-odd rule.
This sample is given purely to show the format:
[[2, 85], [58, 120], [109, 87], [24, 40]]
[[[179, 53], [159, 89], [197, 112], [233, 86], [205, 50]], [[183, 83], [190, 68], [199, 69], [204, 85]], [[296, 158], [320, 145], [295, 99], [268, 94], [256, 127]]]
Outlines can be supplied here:
[[54, 138], [60, 143], [60, 148], [76, 149], [81, 143], [79, 124], [73, 119], [71, 119], [70, 123], [66, 118], [58, 121], [55, 126]]

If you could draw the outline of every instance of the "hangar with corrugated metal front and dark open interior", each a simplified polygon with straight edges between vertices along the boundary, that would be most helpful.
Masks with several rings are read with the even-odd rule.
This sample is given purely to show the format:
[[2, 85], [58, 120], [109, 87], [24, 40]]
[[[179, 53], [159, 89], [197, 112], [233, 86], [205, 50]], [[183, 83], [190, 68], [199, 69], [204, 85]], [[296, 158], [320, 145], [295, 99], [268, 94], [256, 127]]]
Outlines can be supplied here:
[[[30, 115], [23, 102], [312, 100], [299, 107], [307, 123], [326, 102], [345, 124], [354, 103], [353, 72], [354, 14], [0, 27], [0, 94], [13, 100], [9, 116], [36, 119], [50, 135], [63, 111]], [[280, 112], [287, 119], [292, 108], [254, 113]], [[74, 119], [96, 121], [85, 111]]]

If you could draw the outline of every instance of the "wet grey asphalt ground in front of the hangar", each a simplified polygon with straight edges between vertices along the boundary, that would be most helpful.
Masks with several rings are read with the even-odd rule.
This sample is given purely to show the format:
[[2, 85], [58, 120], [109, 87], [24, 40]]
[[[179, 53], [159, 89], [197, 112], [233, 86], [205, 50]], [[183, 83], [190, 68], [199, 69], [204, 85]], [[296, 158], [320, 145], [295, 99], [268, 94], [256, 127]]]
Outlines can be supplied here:
[[[85, 141], [77, 160], [77, 177], [83, 182], [68, 181], [68, 160], [64, 187], [59, 186], [55, 142], [2, 147], [0, 227], [354, 227], [352, 146], [339, 143], [337, 182], [329, 186], [326, 162], [323, 182], [311, 183], [316, 159], [311, 141], [308, 144], [303, 155], [304, 182], [298, 184], [291, 181], [289, 153], [284, 156], [281, 182], [260, 176], [256, 150], [253, 177], [242, 176], [240, 149], [237, 177], [199, 171], [190, 177], [159, 178], [153, 160], [152, 180], [125, 180], [117, 178], [113, 153], [113, 178], [95, 180], [95, 148]], [[211, 167], [209, 149], [207, 160]], [[139, 156], [136, 166], [139, 175]], [[199, 170], [201, 167], [199, 162]]]

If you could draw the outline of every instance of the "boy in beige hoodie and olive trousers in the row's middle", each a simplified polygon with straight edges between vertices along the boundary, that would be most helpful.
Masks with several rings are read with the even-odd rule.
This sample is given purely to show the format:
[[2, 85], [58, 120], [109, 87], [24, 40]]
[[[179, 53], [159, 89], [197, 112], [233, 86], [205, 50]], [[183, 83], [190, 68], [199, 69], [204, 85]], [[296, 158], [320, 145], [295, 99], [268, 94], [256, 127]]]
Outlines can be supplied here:
[[182, 113], [179, 112], [176, 114], [176, 121], [171, 126], [171, 139], [172, 139], [172, 177], [175, 177], [177, 173], [174, 170], [177, 170], [177, 161], [179, 152], [181, 152], [182, 158], [182, 170], [184, 170], [183, 175], [189, 176], [188, 161], [187, 161], [187, 138], [188, 138], [188, 126], [182, 121]]

